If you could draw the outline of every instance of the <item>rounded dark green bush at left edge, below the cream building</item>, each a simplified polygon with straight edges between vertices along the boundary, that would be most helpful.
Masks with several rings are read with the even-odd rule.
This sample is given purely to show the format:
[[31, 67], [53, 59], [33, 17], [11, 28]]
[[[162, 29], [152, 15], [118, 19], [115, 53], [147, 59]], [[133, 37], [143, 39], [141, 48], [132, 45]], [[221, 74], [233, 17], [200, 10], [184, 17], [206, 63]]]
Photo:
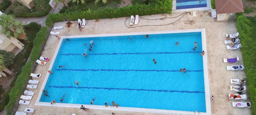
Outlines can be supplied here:
[[14, 54], [13, 52], [7, 52], [5, 50], [0, 50], [0, 55], [4, 57], [4, 66], [8, 67], [14, 62]]

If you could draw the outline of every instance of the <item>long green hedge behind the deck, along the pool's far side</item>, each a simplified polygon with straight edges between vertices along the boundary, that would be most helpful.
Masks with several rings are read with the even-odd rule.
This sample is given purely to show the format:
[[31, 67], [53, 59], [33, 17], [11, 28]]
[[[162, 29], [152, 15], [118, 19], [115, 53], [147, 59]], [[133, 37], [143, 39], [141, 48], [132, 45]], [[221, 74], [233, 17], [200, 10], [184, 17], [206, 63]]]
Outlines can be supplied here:
[[123, 8], [107, 8], [87, 11], [74, 11], [68, 13], [50, 13], [46, 18], [46, 25], [51, 26], [55, 22], [63, 21], [68, 18], [69, 20], [77, 20], [81, 18], [90, 19], [102, 19], [102, 18], [119, 18], [127, 17], [131, 15], [153, 15], [172, 13], [172, 0], [155, 0], [153, 2], [145, 4], [136, 4], [132, 6], [126, 6]]

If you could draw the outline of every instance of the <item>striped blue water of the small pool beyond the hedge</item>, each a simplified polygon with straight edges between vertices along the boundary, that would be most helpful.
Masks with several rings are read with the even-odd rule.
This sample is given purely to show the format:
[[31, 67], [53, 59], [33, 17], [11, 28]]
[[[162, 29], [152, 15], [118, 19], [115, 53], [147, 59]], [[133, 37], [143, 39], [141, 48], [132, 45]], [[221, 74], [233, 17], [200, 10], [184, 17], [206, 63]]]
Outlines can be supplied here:
[[176, 9], [207, 7], [207, 1], [201, 0], [176, 0]]

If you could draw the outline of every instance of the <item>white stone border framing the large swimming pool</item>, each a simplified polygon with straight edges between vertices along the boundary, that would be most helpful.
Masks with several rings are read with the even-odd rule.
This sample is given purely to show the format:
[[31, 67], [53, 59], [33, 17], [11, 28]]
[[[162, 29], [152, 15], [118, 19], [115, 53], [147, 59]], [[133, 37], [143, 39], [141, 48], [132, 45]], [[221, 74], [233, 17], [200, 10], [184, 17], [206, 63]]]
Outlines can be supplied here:
[[[129, 35], [145, 35], [145, 34], [164, 34], [164, 33], [186, 33], [186, 32], [201, 32], [202, 36], [202, 49], [205, 51], [203, 56], [203, 66], [204, 66], [204, 80], [205, 80], [205, 101], [206, 101], [206, 113], [199, 112], [201, 115], [211, 115], [211, 102], [210, 102], [210, 87], [209, 87], [209, 78], [208, 78], [208, 63], [207, 63], [207, 50], [206, 50], [206, 36], [205, 29], [190, 29], [190, 30], [173, 30], [173, 31], [153, 31], [153, 32], [137, 32], [137, 33], [118, 33], [118, 34], [97, 34], [97, 35], [81, 35], [81, 36], [69, 36], [68, 38], [84, 38], [84, 37], [105, 37], [105, 36], [129, 36]], [[61, 39], [58, 43], [57, 49], [55, 51], [54, 57], [51, 60], [51, 65], [49, 70], [51, 70], [56, 56], [58, 54], [60, 45], [63, 39], [67, 38], [66, 36], [61, 36]], [[177, 111], [177, 110], [163, 110], [163, 109], [147, 109], [147, 108], [133, 108], [133, 107], [118, 107], [111, 108], [101, 105], [86, 105], [86, 104], [70, 104], [70, 103], [55, 103], [50, 104], [50, 102], [39, 102], [42, 90], [44, 89], [49, 73], [47, 72], [44, 83], [40, 89], [40, 93], [37, 97], [35, 105], [39, 106], [55, 106], [55, 107], [72, 107], [80, 108], [81, 105], [84, 105], [86, 108], [91, 109], [101, 109], [101, 110], [116, 110], [116, 111], [130, 111], [130, 112], [146, 112], [146, 113], [159, 113], [159, 114], [179, 114], [179, 115], [194, 115], [195, 112], [191, 111]]]

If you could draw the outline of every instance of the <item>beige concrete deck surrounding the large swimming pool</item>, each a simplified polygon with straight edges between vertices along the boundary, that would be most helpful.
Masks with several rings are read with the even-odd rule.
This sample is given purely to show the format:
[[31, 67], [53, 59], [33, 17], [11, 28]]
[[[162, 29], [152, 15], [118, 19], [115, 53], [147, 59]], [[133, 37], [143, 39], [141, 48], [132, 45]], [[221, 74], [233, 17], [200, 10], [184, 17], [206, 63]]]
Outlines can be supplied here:
[[[141, 16], [148, 19], [164, 18], [164, 17], [175, 17], [182, 13], [173, 14], [159, 14], [151, 16]], [[54, 26], [63, 26], [60, 31], [59, 37], [65, 36], [65, 34], [70, 34], [70, 36], [75, 35], [92, 35], [92, 34], [112, 34], [112, 33], [131, 33], [131, 32], [149, 32], [149, 31], [168, 31], [168, 30], [184, 30], [184, 29], [205, 29], [206, 31], [206, 44], [207, 44], [207, 59], [208, 59], [208, 73], [209, 73], [209, 85], [210, 85], [210, 95], [214, 95], [214, 99], [211, 100], [211, 113], [212, 114], [251, 114], [251, 109], [244, 108], [234, 108], [232, 107], [232, 101], [239, 102], [238, 100], [229, 100], [228, 94], [232, 94], [230, 91], [230, 78], [243, 78], [245, 77], [244, 71], [227, 71], [226, 66], [231, 65], [242, 65], [241, 51], [228, 51], [226, 45], [224, 44], [225, 36], [228, 33], [236, 33], [236, 25], [234, 21], [224, 21], [217, 22], [216, 18], [211, 17], [210, 10], [199, 11], [199, 18], [187, 18], [184, 16], [179, 21], [171, 25], [166, 26], [146, 26], [146, 27], [136, 27], [127, 28], [124, 26], [124, 21], [127, 17], [113, 18], [113, 19], [99, 19], [99, 20], [87, 20], [86, 26], [82, 29], [82, 32], [77, 28], [77, 22], [71, 21], [73, 23], [66, 24], [66, 22], [57, 22]], [[145, 20], [140, 19], [138, 25], [163, 25], [176, 21], [178, 18], [169, 18], [162, 20]], [[126, 25], [129, 23], [126, 21]], [[69, 26], [69, 27], [68, 27]], [[127, 38], [129, 39], [129, 38]], [[59, 40], [56, 36], [49, 36], [47, 43], [45, 45], [42, 56], [50, 57], [50, 61], [54, 56], [55, 50], [57, 48]], [[233, 58], [240, 57], [237, 64], [225, 64], [223, 63], [223, 58]], [[88, 112], [81, 110], [79, 108], [69, 108], [69, 107], [51, 107], [51, 106], [38, 106], [35, 105], [37, 96], [40, 92], [41, 86], [44, 82], [45, 76], [47, 74], [50, 62], [45, 66], [38, 65], [35, 73], [41, 73], [40, 78], [34, 78], [39, 80], [37, 89], [29, 89], [30, 91], [35, 91], [35, 95], [30, 100], [29, 105], [20, 105], [18, 111], [24, 112], [25, 108], [34, 108], [33, 114], [63, 114], [68, 115], [75, 113], [79, 114], [90, 114], [90, 115], [102, 115], [111, 114], [115, 112], [116, 115], [153, 115], [156, 113], [142, 113], [142, 112], [128, 112], [128, 111], [118, 111], [118, 108], [113, 110], [99, 110], [90, 109]], [[234, 77], [232, 77], [234, 76]], [[247, 86], [247, 85], [246, 85]], [[248, 92], [248, 91], [247, 91]], [[245, 93], [247, 94], [247, 93]], [[249, 102], [248, 99], [241, 102]], [[50, 102], [49, 102], [50, 105]], [[28, 113], [30, 114], [30, 113]]]

